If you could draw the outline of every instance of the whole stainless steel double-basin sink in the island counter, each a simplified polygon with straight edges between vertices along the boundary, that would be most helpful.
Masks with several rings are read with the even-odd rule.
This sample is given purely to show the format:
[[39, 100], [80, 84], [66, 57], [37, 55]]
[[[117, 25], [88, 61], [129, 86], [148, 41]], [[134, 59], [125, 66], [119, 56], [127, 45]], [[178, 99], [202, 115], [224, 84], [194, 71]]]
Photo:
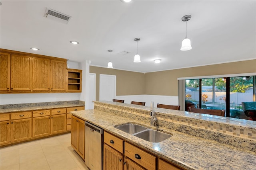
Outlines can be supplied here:
[[120, 126], [117, 126], [116, 128], [153, 143], [162, 142], [165, 139], [168, 139], [169, 137], [172, 136], [167, 133], [156, 131], [156, 130], [153, 130], [141, 125], [137, 125], [134, 123], [120, 125]]

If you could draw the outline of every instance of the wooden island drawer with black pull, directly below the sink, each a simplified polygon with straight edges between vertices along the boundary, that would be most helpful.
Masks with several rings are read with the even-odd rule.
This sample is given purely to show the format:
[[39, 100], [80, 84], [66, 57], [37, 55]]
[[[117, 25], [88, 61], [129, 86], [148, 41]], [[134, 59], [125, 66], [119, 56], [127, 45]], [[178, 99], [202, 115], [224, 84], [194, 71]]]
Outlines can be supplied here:
[[148, 170], [156, 169], [156, 156], [130, 143], [124, 143], [124, 155]]

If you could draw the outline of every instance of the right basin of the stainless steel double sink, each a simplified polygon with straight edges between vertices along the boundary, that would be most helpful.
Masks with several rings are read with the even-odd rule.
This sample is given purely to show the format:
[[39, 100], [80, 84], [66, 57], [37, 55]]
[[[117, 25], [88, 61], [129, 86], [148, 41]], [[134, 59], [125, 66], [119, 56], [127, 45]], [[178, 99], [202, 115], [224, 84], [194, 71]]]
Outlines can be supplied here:
[[154, 143], [162, 142], [165, 139], [168, 139], [169, 137], [171, 137], [171, 135], [169, 135], [167, 133], [163, 133], [163, 132], [156, 131], [153, 129], [147, 129], [145, 131], [135, 134], [134, 136], [139, 137], [139, 138], [144, 139], [149, 142], [154, 142]]

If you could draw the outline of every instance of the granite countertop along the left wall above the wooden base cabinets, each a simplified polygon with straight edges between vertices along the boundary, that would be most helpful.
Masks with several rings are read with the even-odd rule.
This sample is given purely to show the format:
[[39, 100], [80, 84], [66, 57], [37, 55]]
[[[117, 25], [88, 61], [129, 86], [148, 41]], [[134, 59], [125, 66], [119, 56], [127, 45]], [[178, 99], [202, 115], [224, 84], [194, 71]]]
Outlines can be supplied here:
[[0, 113], [31, 111], [31, 110], [41, 110], [41, 109], [55, 109], [55, 108], [63, 108], [63, 107], [77, 107], [77, 106], [84, 106], [84, 104], [57, 104], [57, 105], [49, 105], [49, 106], [42, 105], [42, 106], [14, 107], [14, 108], [0, 109]]

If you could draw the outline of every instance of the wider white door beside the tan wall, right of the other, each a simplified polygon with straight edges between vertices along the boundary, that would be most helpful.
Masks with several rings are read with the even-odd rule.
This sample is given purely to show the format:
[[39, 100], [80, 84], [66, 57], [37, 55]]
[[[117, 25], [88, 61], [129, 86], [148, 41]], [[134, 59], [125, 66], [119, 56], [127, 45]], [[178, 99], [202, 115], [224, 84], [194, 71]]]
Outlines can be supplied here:
[[100, 100], [112, 101], [116, 96], [116, 76], [100, 74]]

